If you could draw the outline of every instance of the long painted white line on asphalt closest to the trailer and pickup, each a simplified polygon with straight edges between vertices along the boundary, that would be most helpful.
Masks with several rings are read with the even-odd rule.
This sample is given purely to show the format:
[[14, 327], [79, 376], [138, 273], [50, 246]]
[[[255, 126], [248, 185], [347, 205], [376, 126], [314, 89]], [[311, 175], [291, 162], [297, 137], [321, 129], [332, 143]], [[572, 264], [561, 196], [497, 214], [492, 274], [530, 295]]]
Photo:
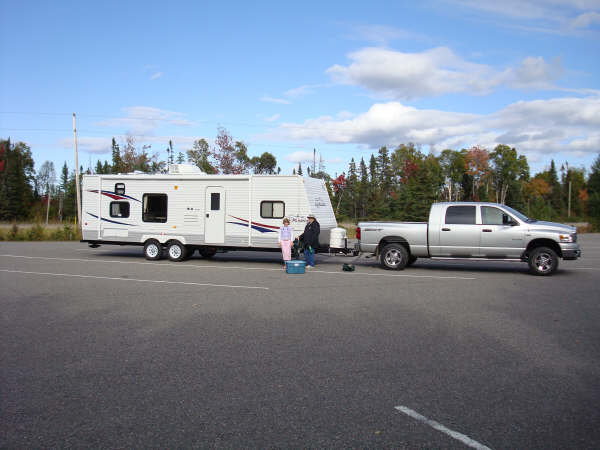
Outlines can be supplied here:
[[[234, 270], [263, 270], [272, 272], [282, 272], [280, 268], [270, 269], [266, 267], [242, 267], [242, 266], [223, 266], [223, 265], [208, 265], [208, 264], [173, 264], [173, 263], [159, 263], [159, 262], [133, 262], [133, 261], [118, 261], [118, 260], [98, 260], [89, 258], [56, 258], [51, 256], [24, 256], [24, 255], [1, 255], [7, 258], [22, 258], [22, 259], [43, 259], [49, 261], [76, 261], [76, 262], [91, 262], [91, 263], [110, 263], [110, 264], [138, 264], [138, 265], [153, 265], [153, 266], [165, 266], [173, 267], [178, 269], [234, 269]], [[308, 273], [328, 273], [340, 275], [341, 272], [325, 271], [325, 270], [311, 270]], [[455, 276], [436, 276], [436, 275], [409, 275], [409, 274], [392, 274], [392, 273], [366, 273], [366, 272], [353, 272], [355, 275], [364, 275], [372, 277], [402, 277], [402, 278], [429, 278], [437, 280], [476, 280], [474, 277], [455, 277]]]

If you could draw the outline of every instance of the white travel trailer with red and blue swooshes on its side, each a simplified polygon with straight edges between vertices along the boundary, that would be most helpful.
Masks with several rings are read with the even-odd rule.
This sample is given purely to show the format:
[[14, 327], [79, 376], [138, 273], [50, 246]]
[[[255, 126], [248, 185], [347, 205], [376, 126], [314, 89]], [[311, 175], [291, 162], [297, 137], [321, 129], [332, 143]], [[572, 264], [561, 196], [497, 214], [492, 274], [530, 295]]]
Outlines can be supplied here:
[[298, 236], [313, 214], [322, 247], [337, 227], [324, 181], [296, 175], [207, 175], [171, 165], [168, 174], [84, 175], [82, 193], [83, 242], [143, 245], [151, 260], [163, 248], [174, 261], [195, 250], [277, 250], [284, 217]]

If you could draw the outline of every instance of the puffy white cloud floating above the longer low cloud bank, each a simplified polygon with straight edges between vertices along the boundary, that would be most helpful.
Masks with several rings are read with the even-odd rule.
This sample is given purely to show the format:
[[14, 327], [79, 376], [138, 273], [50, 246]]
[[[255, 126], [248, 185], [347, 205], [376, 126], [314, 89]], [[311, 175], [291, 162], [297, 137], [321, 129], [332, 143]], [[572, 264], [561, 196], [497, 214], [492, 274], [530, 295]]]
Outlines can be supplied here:
[[401, 100], [451, 93], [484, 95], [500, 86], [550, 89], [562, 74], [560, 59], [549, 64], [542, 57], [528, 57], [519, 67], [498, 71], [467, 61], [447, 47], [421, 53], [368, 47], [348, 56], [348, 66], [327, 69], [334, 81]]

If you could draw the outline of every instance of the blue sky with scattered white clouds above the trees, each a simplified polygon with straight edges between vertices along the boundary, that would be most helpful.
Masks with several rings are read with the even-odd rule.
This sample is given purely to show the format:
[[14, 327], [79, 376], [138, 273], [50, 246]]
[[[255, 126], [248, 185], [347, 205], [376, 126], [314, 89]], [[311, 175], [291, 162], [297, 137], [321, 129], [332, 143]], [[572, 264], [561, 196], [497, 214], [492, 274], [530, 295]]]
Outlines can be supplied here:
[[[418, 5], [417, 5], [418, 3]], [[0, 0], [0, 137], [36, 167], [114, 136], [185, 153], [217, 127], [282, 173], [379, 146], [514, 146], [532, 174], [600, 152], [600, 0]]]

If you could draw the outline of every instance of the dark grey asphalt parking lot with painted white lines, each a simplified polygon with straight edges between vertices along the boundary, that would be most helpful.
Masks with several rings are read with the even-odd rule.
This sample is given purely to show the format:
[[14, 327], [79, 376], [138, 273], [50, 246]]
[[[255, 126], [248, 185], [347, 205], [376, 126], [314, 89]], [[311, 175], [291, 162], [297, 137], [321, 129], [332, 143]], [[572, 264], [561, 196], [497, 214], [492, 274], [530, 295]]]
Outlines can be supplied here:
[[2, 242], [0, 446], [599, 448], [600, 235], [580, 244], [535, 277]]

